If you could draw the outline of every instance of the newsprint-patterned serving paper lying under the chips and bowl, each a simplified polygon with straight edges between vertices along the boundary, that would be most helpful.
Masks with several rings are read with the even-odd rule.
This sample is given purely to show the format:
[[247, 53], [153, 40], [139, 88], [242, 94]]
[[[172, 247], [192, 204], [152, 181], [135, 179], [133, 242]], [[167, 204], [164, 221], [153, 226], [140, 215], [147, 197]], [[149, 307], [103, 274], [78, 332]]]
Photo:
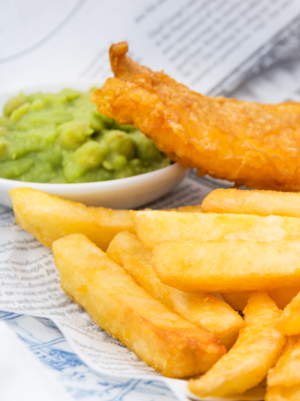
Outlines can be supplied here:
[[[217, 185], [192, 173], [170, 194], [147, 206], [159, 209], [199, 204]], [[67, 297], [60, 288], [51, 250], [16, 225], [12, 212], [1, 211], [0, 226], [0, 310], [50, 318], [80, 359], [100, 374], [161, 380], [178, 399], [197, 399], [188, 392], [185, 380], [161, 376], [118, 339], [99, 328]], [[239, 396], [238, 399], [254, 401], [261, 396]]]

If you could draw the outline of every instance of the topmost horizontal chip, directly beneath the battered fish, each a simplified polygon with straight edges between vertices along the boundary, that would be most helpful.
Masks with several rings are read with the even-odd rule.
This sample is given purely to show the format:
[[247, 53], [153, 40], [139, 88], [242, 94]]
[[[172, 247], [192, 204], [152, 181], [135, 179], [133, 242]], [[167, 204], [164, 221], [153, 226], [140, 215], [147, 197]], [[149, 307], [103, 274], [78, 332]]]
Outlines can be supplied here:
[[300, 193], [215, 189], [203, 199], [203, 212], [300, 217]]

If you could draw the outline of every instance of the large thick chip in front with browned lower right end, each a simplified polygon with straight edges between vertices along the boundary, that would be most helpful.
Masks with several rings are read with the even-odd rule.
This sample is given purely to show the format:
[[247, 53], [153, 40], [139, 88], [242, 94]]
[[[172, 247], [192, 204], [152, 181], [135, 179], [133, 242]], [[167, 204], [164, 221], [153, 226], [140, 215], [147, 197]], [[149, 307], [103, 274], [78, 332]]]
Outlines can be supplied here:
[[82, 234], [53, 243], [62, 289], [102, 328], [165, 376], [206, 371], [225, 347], [171, 311]]

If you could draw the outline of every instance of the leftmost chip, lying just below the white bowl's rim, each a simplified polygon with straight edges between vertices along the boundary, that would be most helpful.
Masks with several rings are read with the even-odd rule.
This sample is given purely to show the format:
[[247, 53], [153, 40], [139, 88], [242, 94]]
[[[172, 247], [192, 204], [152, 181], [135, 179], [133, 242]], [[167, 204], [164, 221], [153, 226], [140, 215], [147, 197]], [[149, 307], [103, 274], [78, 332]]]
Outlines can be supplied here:
[[86, 207], [31, 188], [9, 193], [17, 223], [46, 247], [67, 234], [81, 233], [105, 251], [120, 231], [134, 233], [126, 210]]

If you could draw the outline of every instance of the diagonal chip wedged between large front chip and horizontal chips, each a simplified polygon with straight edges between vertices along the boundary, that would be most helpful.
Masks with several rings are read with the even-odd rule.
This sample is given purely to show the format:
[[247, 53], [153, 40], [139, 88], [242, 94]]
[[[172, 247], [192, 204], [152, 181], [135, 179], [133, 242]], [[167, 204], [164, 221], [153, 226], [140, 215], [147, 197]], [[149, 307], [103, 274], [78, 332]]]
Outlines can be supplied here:
[[106, 254], [122, 266], [142, 288], [190, 322], [211, 331], [225, 347], [235, 342], [243, 319], [214, 294], [188, 294], [162, 284], [151, 264], [151, 252], [135, 234], [123, 231], [109, 244]]

